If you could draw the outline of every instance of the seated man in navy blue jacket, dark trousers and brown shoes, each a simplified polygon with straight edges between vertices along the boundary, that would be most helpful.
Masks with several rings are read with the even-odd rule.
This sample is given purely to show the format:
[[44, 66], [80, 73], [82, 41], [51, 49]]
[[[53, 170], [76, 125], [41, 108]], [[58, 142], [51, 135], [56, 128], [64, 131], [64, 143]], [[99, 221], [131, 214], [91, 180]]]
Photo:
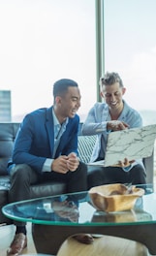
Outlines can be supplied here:
[[[53, 106], [27, 114], [16, 135], [9, 163], [11, 202], [30, 199], [30, 185], [65, 181], [67, 192], [87, 189], [87, 168], [78, 160], [80, 92], [74, 80], [53, 84]], [[27, 246], [25, 223], [15, 222], [16, 235], [7, 255], [19, 255]]]

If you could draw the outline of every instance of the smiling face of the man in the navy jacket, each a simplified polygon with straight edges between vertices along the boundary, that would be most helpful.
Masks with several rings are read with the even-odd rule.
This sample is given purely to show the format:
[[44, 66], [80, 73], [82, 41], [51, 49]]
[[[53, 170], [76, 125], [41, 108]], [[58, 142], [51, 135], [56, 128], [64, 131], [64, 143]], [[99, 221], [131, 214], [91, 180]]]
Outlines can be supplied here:
[[80, 107], [78, 87], [69, 86], [66, 93], [55, 98], [54, 112], [62, 123], [67, 117], [73, 118]]

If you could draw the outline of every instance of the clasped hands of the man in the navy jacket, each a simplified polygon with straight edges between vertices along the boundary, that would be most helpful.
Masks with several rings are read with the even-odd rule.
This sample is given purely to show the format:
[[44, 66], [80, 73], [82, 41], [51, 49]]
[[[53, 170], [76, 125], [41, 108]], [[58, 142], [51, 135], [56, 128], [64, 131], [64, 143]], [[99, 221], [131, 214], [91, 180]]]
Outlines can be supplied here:
[[51, 165], [51, 170], [56, 173], [67, 174], [69, 171], [76, 171], [78, 165], [78, 156], [76, 153], [72, 152], [68, 156], [60, 155], [58, 158], [54, 159]]

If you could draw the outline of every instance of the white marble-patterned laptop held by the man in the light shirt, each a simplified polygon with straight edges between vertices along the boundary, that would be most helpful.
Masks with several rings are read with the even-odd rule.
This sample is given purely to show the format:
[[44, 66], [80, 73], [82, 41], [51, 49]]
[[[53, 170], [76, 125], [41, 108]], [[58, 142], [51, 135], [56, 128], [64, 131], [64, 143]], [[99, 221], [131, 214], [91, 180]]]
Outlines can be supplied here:
[[105, 160], [88, 163], [92, 166], [113, 166], [118, 161], [151, 156], [156, 139], [156, 124], [109, 133]]

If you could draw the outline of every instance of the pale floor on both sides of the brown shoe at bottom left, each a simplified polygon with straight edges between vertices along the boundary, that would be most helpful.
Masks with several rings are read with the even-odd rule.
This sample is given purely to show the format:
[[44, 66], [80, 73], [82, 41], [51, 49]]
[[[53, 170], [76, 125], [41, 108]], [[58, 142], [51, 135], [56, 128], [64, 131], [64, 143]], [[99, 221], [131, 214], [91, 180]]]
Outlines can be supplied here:
[[[22, 254], [36, 254], [36, 249], [31, 235], [31, 223], [27, 224], [27, 237], [28, 237], [28, 246], [23, 250]], [[15, 236], [15, 226], [7, 225], [0, 226], [0, 255], [6, 256], [7, 248], [10, 246], [10, 243]]]

